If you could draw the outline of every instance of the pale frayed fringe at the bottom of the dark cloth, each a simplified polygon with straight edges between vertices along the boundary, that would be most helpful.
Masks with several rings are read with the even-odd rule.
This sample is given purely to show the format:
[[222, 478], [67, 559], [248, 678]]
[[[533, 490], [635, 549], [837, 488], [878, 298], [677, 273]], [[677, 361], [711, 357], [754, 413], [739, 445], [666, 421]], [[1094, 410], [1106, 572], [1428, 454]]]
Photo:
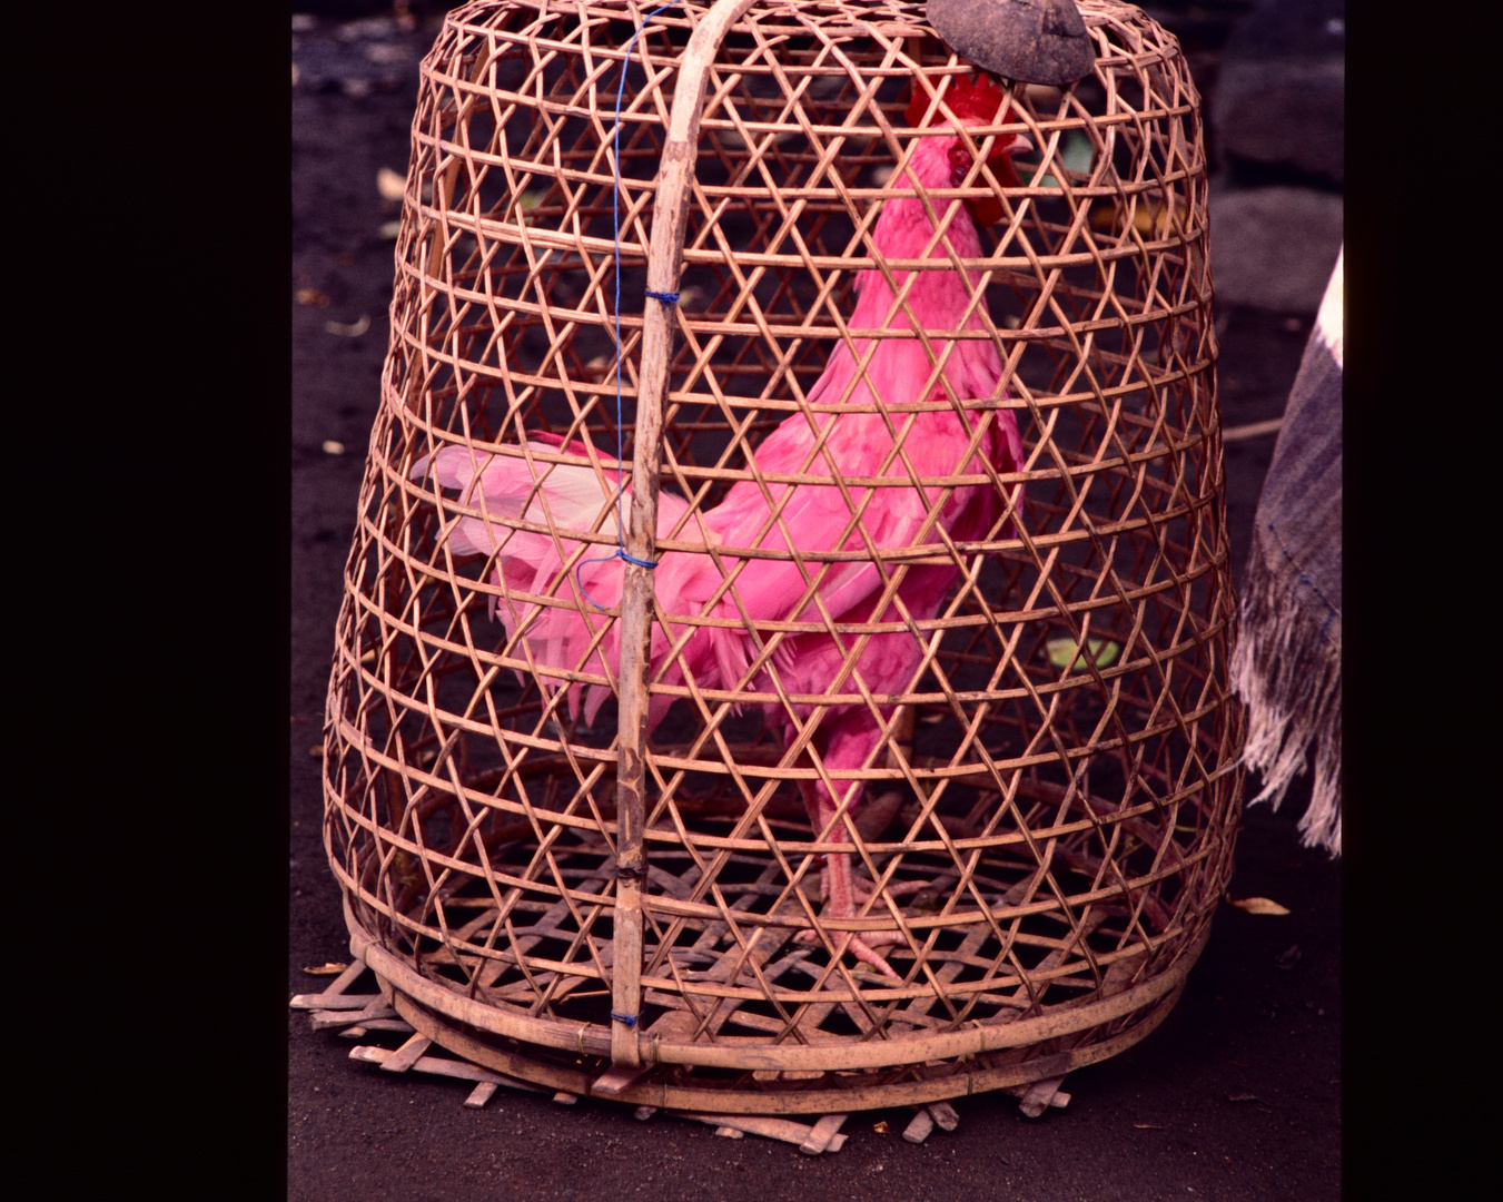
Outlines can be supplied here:
[[[1243, 760], [1263, 773], [1263, 791], [1278, 809], [1305, 772], [1315, 745], [1315, 782], [1300, 818], [1306, 847], [1341, 854], [1341, 636], [1321, 641], [1326, 614], [1302, 606], [1270, 570], [1254, 539], [1241, 596], [1241, 630], [1231, 657], [1231, 683], [1247, 706]], [[1252, 803], [1249, 802], [1249, 805]]]

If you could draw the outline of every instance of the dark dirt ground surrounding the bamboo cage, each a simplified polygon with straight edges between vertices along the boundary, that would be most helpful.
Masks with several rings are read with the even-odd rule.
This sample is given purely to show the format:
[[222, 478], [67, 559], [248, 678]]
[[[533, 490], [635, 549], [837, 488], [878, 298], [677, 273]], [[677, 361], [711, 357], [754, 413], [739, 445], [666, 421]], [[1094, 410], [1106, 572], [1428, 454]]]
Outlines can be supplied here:
[[[325, 984], [305, 966], [349, 958], [319, 839], [319, 760], [310, 748], [320, 742], [341, 570], [388, 335], [392, 244], [380, 227], [398, 208], [380, 199], [376, 175], [406, 168], [416, 62], [437, 20], [424, 14], [412, 32], [386, 21], [340, 41], [335, 21], [323, 18], [299, 35], [295, 54], [289, 996]], [[326, 304], [296, 302], [304, 289]], [[362, 317], [370, 326], [359, 337], [325, 325]], [[1219, 311], [1225, 426], [1282, 412], [1311, 319]], [[329, 441], [344, 451], [326, 451]], [[1272, 451], [1272, 436], [1226, 448], [1238, 569]], [[1300, 847], [1303, 800], [1291, 796], [1281, 812], [1247, 811], [1231, 886], [1232, 897], [1270, 897], [1291, 913], [1223, 906], [1171, 1017], [1127, 1053], [1072, 1074], [1064, 1110], [1028, 1119], [1009, 1095], [960, 1100], [959, 1130], [935, 1131], [923, 1145], [902, 1140], [906, 1113], [854, 1115], [842, 1152], [806, 1157], [792, 1145], [718, 1139], [709, 1127], [663, 1116], [637, 1122], [628, 1109], [592, 1101], [565, 1109], [502, 1091], [484, 1109], [466, 1109], [467, 1086], [391, 1079], [352, 1062], [349, 1041], [316, 1034], [307, 1015], [289, 1012], [287, 1196], [1335, 1199], [1342, 873], [1324, 853]], [[882, 1118], [888, 1134], [873, 1131]]]

